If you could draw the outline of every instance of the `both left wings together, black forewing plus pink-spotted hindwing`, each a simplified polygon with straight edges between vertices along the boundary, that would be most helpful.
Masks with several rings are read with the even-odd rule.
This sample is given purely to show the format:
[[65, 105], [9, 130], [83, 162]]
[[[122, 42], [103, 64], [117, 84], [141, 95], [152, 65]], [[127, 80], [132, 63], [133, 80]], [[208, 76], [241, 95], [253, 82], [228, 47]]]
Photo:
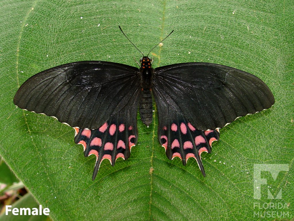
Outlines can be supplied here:
[[75, 142], [83, 144], [85, 156], [97, 157], [94, 179], [103, 159], [114, 165], [118, 157], [127, 159], [136, 144], [140, 82], [136, 67], [74, 62], [29, 78], [17, 91], [14, 103], [74, 127]]

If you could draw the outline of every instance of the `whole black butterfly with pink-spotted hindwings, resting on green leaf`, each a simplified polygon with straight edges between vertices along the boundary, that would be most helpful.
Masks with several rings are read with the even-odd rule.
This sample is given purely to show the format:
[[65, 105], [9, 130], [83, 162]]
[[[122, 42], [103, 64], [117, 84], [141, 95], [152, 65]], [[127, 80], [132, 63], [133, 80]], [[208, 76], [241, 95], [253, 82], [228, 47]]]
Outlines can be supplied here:
[[167, 157], [179, 157], [184, 165], [195, 158], [203, 176], [200, 155], [211, 152], [218, 129], [275, 102], [262, 80], [232, 67], [193, 62], [153, 69], [148, 55], [140, 63], [140, 69], [105, 61], [53, 67], [26, 80], [14, 104], [73, 127], [85, 156], [97, 157], [95, 179], [103, 159], [113, 166], [130, 156], [138, 138], [138, 107], [143, 123], [152, 122], [152, 93]]

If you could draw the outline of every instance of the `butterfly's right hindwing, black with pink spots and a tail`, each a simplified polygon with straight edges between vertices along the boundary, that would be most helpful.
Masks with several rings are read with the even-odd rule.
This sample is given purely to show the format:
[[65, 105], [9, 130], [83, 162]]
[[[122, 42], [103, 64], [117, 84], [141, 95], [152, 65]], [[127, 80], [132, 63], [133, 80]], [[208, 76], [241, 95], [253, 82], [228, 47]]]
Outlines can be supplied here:
[[166, 156], [172, 160], [179, 157], [183, 165], [192, 157], [205, 176], [201, 153], [211, 153], [211, 144], [219, 139], [219, 131], [197, 130], [187, 118], [165, 102], [162, 93], [155, 92], [154, 97], [158, 108], [158, 138], [166, 150]]

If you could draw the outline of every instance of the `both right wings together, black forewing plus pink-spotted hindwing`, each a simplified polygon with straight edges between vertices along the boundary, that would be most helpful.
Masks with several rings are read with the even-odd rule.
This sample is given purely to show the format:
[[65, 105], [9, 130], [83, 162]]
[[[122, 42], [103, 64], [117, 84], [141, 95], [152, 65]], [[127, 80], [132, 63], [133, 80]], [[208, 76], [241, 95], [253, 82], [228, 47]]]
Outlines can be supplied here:
[[[203, 173], [200, 154], [211, 152], [218, 128], [240, 116], [271, 107], [268, 86], [247, 72], [211, 63], [182, 63], [154, 70], [158, 137], [169, 159], [193, 157]], [[167, 117], [168, 116], [168, 117]]]

